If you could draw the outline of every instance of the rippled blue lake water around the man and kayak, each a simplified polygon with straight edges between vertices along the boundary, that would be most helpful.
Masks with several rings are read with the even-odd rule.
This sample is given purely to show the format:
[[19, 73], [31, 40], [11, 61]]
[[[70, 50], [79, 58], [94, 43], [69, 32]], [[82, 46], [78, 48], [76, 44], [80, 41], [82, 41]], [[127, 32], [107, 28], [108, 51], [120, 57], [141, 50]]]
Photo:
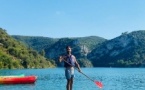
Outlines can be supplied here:
[[[73, 90], [145, 90], [145, 68], [82, 68], [94, 82], [75, 71]], [[0, 75], [38, 76], [35, 84], [0, 85], [0, 90], [66, 90], [64, 68], [0, 70]]]

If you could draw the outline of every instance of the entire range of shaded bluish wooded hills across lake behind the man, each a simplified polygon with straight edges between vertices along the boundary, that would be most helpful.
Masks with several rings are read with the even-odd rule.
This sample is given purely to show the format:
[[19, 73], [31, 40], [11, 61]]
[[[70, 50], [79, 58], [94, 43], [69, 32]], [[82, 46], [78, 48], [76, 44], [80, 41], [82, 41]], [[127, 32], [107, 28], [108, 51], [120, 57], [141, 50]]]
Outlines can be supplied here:
[[145, 67], [145, 30], [124, 32], [111, 40], [97, 36], [59, 39], [31, 36], [14, 38], [28, 44], [46, 58], [53, 59], [57, 65], [59, 55], [64, 55], [65, 47], [70, 45], [72, 53], [82, 67]]

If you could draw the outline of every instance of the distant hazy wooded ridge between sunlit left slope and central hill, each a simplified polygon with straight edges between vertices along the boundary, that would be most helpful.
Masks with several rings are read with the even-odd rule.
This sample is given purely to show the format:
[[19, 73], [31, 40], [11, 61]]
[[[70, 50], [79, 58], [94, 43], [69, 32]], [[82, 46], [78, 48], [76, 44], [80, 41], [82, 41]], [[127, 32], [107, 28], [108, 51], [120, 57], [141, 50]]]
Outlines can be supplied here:
[[38, 37], [38, 36], [20, 36], [20, 35], [13, 35], [15, 39], [18, 41], [23, 42], [28, 47], [31, 47], [38, 52], [44, 50], [45, 48], [49, 48], [59, 39], [49, 38], [49, 37]]

